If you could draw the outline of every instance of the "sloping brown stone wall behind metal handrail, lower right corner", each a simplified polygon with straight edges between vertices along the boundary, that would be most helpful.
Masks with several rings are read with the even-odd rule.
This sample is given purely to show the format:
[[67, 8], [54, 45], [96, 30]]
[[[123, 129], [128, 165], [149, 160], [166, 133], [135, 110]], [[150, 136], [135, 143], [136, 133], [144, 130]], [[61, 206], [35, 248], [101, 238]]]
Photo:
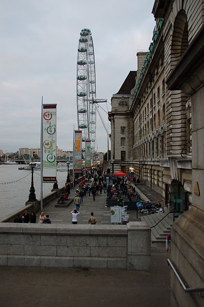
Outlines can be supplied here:
[[[192, 207], [173, 223], [171, 230], [171, 261], [187, 288], [204, 284], [203, 220], [204, 212]], [[182, 290], [173, 271], [171, 289], [172, 306], [203, 305], [203, 297], [198, 292]]]

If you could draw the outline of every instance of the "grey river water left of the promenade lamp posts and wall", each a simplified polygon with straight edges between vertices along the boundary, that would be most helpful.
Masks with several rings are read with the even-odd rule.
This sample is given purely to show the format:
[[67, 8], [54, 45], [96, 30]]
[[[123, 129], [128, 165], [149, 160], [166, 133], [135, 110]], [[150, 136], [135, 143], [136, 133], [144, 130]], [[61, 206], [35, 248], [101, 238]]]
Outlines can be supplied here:
[[[18, 170], [20, 165], [0, 165], [0, 218], [12, 214], [25, 206], [28, 201], [31, 187], [31, 171]], [[40, 170], [34, 170], [33, 174], [35, 195], [40, 199]], [[57, 171], [58, 187], [65, 186], [67, 180], [67, 168], [65, 171]], [[53, 183], [43, 183], [43, 196], [51, 192]], [[26, 208], [26, 207], [25, 207]]]

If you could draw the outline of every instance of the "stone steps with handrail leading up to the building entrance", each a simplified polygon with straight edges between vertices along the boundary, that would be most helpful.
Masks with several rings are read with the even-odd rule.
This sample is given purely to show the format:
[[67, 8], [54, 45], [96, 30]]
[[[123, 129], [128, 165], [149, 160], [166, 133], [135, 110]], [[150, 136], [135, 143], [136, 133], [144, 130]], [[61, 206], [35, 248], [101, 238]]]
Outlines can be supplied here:
[[[154, 226], [159, 220], [164, 217], [166, 213], [155, 213], [151, 215], [141, 215], [141, 221], [146, 221], [149, 227]], [[151, 228], [152, 243], [165, 242], [166, 236], [171, 232], [173, 224], [173, 214], [170, 213], [157, 226]]]

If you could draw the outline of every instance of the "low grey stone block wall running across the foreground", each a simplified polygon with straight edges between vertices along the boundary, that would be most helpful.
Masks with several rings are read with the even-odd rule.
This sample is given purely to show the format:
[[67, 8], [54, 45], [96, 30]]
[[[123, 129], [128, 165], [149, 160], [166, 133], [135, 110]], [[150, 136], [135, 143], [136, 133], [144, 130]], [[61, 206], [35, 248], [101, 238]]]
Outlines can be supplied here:
[[0, 265], [150, 271], [151, 230], [127, 225], [0, 224]]

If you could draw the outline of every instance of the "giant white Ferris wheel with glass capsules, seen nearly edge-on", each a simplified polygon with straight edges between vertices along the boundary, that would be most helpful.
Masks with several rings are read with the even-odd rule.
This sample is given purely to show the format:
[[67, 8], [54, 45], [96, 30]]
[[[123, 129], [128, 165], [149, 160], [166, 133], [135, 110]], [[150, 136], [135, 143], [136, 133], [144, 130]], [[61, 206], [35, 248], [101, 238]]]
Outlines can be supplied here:
[[[91, 140], [95, 151], [96, 140], [96, 77], [93, 39], [90, 29], [82, 29], [78, 40], [76, 71], [76, 104], [78, 129], [82, 141]], [[84, 143], [85, 144], [85, 143]], [[83, 145], [83, 150], [85, 146]]]

